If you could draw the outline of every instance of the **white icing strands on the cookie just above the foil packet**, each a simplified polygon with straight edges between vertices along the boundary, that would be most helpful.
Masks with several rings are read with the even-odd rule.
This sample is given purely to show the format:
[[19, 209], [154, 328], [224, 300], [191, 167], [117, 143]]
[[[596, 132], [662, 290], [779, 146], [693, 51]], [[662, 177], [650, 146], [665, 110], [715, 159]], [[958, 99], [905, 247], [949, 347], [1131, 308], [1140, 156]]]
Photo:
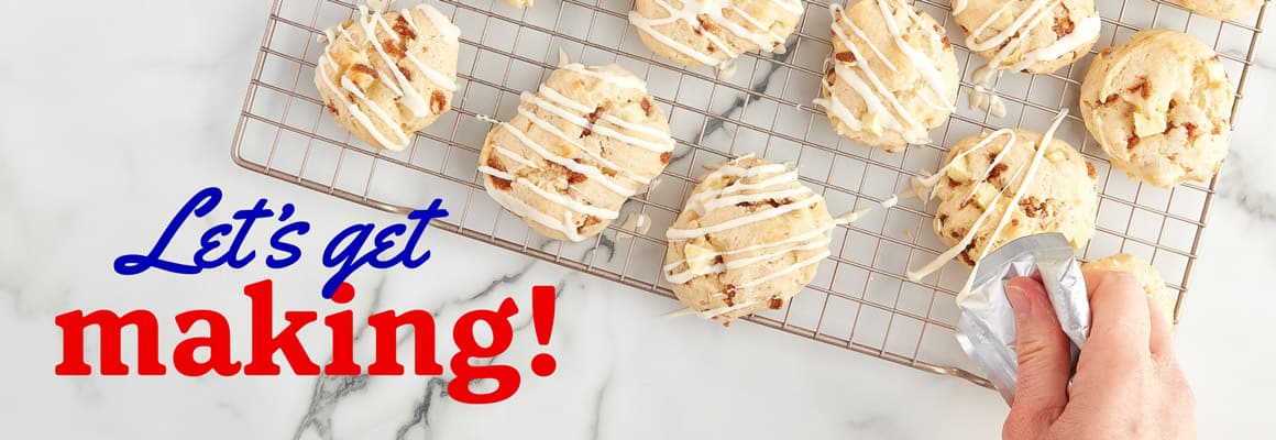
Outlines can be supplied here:
[[[1027, 189], [1032, 185], [1034, 179], [1036, 177], [1037, 168], [1041, 165], [1041, 159], [1045, 157], [1046, 149], [1049, 148], [1050, 143], [1054, 142], [1054, 134], [1059, 130], [1059, 126], [1063, 124], [1063, 120], [1067, 116], [1068, 116], [1067, 108], [1059, 111], [1059, 115], [1057, 115], [1054, 121], [1050, 124], [1050, 129], [1046, 130], [1046, 133], [1041, 136], [1041, 142], [1034, 148], [1032, 161], [1030, 161], [1026, 166], [1021, 167], [1020, 170], [1016, 170], [1014, 175], [1011, 176], [1009, 182], [1014, 182], [1016, 180], [1020, 179], [1020, 176], [1022, 176], [1022, 180], [1020, 180], [1018, 187], [1014, 190], [1013, 195], [1007, 200], [1008, 203], [1007, 209], [1004, 209], [1004, 212], [1002, 213], [1002, 217], [997, 222], [997, 227], [989, 236], [990, 238], [988, 240], [988, 244], [984, 245], [984, 249], [980, 251], [979, 255], [988, 255], [988, 253], [993, 249], [993, 245], [997, 242], [997, 238], [1000, 237], [1002, 231], [1005, 230], [1005, 224], [1009, 223], [1011, 217], [1014, 214], [1014, 209], [1009, 208], [1018, 205], [1020, 200], [1023, 198]], [[1008, 139], [1005, 140], [1005, 147], [1003, 147], [1002, 150], [998, 152], [993, 159], [993, 163], [1002, 163], [1004, 156], [1008, 154], [1014, 148], [1018, 138], [1014, 134], [1014, 130], [1011, 129], [1002, 129], [985, 135], [984, 139], [981, 139], [977, 144], [962, 152], [961, 154], [954, 156], [953, 159], [948, 162], [948, 165], [946, 165], [933, 176], [921, 180], [923, 185], [931, 189], [930, 196], [934, 196], [934, 187], [935, 185], [939, 184], [942, 177], [947, 175], [948, 168], [951, 168], [954, 163], [960, 163], [960, 161], [963, 161], [966, 156], [970, 156], [977, 150], [986, 148], [988, 145], [991, 145], [995, 139], [999, 139], [1002, 136], [1008, 136]], [[990, 165], [988, 170], [984, 171], [984, 176], [980, 179], [980, 181], [988, 180], [988, 176], [991, 173], [993, 168], [994, 166]], [[1011, 186], [1013, 185], [1007, 185], [998, 194], [1004, 195]], [[977, 185], [972, 186], [971, 195], [977, 189], [979, 189]], [[906, 273], [909, 279], [920, 281], [921, 278], [938, 270], [949, 260], [957, 258], [958, 254], [966, 250], [966, 247], [975, 241], [975, 233], [980, 231], [980, 228], [984, 226], [984, 222], [988, 221], [988, 218], [990, 218], [991, 213], [997, 210], [997, 207], [1000, 205], [1003, 199], [1005, 198], [1004, 196], [995, 198], [991, 202], [991, 204], [988, 208], [985, 208], [984, 212], [975, 219], [975, 223], [971, 224], [970, 231], [967, 231], [966, 235], [962, 236], [961, 241], [957, 245], [949, 247], [947, 251], [944, 251], [943, 254], [940, 254], [938, 258], [925, 264], [924, 267], [916, 270], [909, 270]], [[975, 268], [971, 270], [970, 277], [966, 279], [966, 284], [962, 286], [962, 290], [958, 293], [958, 300], [961, 298], [961, 296], [968, 295], [970, 286], [974, 282], [975, 272], [977, 270], [979, 270], [979, 260], [975, 261]]]

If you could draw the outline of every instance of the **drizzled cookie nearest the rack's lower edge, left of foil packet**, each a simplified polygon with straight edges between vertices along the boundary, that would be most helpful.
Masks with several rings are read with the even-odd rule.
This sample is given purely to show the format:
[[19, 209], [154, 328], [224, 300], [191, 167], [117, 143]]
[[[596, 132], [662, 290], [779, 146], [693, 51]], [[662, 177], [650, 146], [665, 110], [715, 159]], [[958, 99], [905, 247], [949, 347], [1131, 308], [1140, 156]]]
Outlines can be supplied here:
[[695, 186], [669, 228], [665, 277], [706, 319], [780, 309], [815, 277], [837, 223], [796, 171], [745, 156]]

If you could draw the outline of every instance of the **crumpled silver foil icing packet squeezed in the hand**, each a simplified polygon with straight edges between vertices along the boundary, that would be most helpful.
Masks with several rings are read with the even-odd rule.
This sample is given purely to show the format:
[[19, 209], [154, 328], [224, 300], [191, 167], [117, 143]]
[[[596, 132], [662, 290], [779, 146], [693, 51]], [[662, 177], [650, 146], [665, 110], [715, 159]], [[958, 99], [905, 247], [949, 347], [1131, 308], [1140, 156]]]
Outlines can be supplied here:
[[1005, 282], [1034, 277], [1045, 286], [1063, 333], [1072, 341], [1076, 367], [1081, 346], [1090, 334], [1086, 279], [1074, 250], [1062, 233], [1026, 236], [1005, 244], [979, 261], [968, 292], [957, 297], [961, 318], [957, 342], [1007, 403], [1014, 400], [1018, 357], [1014, 310], [1005, 298]]

